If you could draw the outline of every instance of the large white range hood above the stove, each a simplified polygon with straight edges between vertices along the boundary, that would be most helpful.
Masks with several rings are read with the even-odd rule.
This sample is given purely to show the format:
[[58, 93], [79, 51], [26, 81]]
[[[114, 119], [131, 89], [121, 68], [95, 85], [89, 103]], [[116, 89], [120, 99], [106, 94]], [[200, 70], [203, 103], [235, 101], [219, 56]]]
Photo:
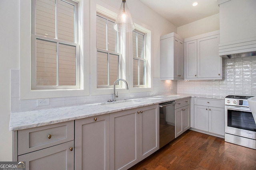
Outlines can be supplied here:
[[256, 56], [256, 0], [218, 0], [219, 56], [224, 59]]

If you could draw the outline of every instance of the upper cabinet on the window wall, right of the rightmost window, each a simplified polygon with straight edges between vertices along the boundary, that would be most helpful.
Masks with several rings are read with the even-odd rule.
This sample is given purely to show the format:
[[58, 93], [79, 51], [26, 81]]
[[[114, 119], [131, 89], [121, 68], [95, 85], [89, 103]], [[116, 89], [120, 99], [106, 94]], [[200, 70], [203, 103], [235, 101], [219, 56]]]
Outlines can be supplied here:
[[176, 33], [160, 37], [160, 79], [184, 80], [184, 39]]

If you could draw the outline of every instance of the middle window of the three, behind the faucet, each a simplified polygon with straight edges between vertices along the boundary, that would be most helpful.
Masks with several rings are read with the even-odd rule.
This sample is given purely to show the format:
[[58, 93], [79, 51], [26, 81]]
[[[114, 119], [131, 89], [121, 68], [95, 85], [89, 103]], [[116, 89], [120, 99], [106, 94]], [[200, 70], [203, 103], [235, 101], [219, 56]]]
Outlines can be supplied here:
[[[97, 13], [97, 88], [108, 88], [120, 78], [121, 54], [119, 53], [119, 34], [114, 30], [111, 18]], [[120, 86], [117, 83], [117, 87]]]

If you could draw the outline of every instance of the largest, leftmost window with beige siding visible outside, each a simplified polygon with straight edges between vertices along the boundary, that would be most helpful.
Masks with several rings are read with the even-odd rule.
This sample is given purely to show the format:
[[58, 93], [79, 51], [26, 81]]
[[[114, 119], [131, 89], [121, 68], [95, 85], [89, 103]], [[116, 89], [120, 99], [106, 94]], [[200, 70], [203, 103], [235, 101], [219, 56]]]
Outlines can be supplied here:
[[80, 88], [78, 3], [33, 0], [32, 89]]

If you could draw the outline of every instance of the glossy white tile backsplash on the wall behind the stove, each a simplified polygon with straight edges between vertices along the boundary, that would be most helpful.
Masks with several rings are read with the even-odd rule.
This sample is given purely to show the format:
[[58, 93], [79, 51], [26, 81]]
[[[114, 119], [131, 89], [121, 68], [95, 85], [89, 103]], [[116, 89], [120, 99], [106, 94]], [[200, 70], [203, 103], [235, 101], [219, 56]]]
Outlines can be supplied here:
[[[178, 93], [256, 96], [256, 56], [224, 60], [224, 80], [178, 80]], [[189, 83], [188, 83], [189, 82]], [[200, 87], [205, 87], [204, 90]]]

